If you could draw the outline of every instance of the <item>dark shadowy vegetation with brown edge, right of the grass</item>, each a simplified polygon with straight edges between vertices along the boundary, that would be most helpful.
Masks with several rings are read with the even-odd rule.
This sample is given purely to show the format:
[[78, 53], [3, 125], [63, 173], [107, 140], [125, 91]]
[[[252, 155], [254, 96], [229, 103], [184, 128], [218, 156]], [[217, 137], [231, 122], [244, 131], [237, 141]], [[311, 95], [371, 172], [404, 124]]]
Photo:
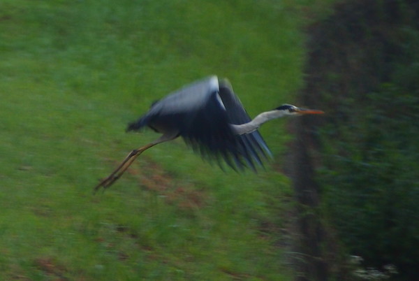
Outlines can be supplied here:
[[317, 222], [309, 232], [316, 243], [308, 247], [321, 249], [318, 257], [338, 280], [374, 278], [348, 274], [349, 254], [362, 257], [364, 268], [395, 266], [398, 273], [387, 277], [413, 280], [419, 275], [419, 3], [344, 1], [308, 33], [302, 101], [328, 113], [304, 120], [300, 134], [320, 186], [308, 192], [321, 197], [310, 205]]

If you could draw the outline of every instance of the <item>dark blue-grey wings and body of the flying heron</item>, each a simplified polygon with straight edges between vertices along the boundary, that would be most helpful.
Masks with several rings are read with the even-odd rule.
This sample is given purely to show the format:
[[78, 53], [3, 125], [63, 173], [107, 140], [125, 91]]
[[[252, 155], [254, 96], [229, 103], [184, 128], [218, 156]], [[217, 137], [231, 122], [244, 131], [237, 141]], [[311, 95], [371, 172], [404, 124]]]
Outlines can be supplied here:
[[[174, 131], [187, 145], [205, 159], [226, 161], [232, 168], [262, 164], [261, 157], [270, 154], [258, 131], [236, 136], [230, 124], [250, 121], [242, 103], [226, 82], [216, 76], [187, 85], [154, 103], [149, 112], [128, 130], [149, 126], [165, 134]], [[172, 133], [172, 132], [170, 132]]]

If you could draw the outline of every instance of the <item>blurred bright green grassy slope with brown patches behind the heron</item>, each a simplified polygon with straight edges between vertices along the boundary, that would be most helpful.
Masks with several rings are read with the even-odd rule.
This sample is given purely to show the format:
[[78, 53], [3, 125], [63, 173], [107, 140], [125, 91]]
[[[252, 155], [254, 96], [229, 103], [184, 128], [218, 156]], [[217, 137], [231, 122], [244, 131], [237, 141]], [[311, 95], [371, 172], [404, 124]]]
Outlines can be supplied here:
[[228, 77], [251, 116], [292, 103], [304, 2], [2, 0], [0, 280], [290, 280], [284, 120], [257, 175], [179, 139], [92, 189], [156, 138], [126, 123], [187, 82]]

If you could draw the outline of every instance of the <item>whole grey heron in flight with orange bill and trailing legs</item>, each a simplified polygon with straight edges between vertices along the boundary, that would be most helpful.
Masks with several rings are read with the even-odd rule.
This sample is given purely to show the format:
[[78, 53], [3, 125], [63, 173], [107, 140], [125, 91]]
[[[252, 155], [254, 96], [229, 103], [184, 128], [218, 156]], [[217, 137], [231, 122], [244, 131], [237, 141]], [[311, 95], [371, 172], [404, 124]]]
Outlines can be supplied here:
[[204, 159], [215, 159], [235, 171], [263, 166], [272, 157], [258, 128], [263, 123], [292, 115], [322, 114], [321, 110], [284, 104], [273, 110], [249, 117], [233, 87], [216, 75], [192, 82], [152, 103], [145, 115], [128, 124], [126, 131], [149, 127], [161, 134], [155, 141], [132, 150], [107, 178], [94, 188], [106, 189], [118, 180], [133, 161], [154, 145], [182, 137]]

